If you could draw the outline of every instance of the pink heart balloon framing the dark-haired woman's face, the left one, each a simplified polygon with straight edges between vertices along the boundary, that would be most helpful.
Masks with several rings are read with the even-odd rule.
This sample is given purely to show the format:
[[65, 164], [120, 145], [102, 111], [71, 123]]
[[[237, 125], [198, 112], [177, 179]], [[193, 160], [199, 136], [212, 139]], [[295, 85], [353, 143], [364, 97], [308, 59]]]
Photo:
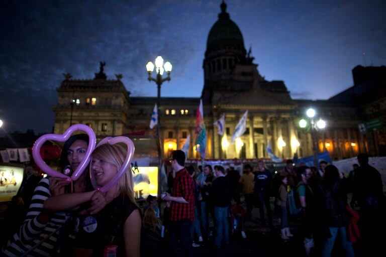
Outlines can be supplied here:
[[[40, 155], [40, 148], [47, 140], [58, 141], [58, 142], [67, 141], [71, 137], [71, 134], [74, 133], [75, 131], [84, 131], [88, 135], [88, 148], [87, 148], [86, 154], [84, 155], [83, 160], [80, 162], [79, 166], [76, 168], [71, 178], [69, 178], [63, 173], [60, 173], [52, 169], [43, 161]], [[72, 181], [75, 181], [83, 173], [84, 169], [87, 167], [88, 163], [90, 162], [90, 155], [92, 151], [94, 151], [95, 145], [96, 145], [96, 138], [92, 129], [89, 126], [84, 124], [75, 124], [70, 126], [62, 135], [46, 134], [38, 138], [38, 140], [36, 140], [32, 148], [32, 156], [35, 160], [35, 163], [39, 166], [39, 168], [42, 169], [45, 173], [47, 173], [51, 177], [60, 177], [60, 178], [65, 178], [65, 179], [70, 179]]]

